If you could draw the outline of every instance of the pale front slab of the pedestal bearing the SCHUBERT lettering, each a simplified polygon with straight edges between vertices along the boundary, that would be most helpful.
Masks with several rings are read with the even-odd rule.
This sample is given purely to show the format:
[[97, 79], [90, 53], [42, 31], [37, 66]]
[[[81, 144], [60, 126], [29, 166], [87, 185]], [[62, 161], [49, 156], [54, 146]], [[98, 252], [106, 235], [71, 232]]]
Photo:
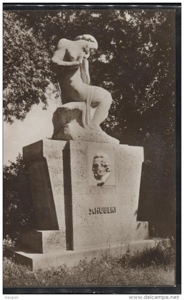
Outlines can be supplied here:
[[[146, 239], [148, 223], [137, 222], [143, 148], [70, 141], [66, 151], [71, 167], [67, 203], [72, 206], [67, 249]], [[114, 155], [114, 180], [112, 177], [102, 187], [91, 185], [90, 178], [93, 153], [99, 151]]]

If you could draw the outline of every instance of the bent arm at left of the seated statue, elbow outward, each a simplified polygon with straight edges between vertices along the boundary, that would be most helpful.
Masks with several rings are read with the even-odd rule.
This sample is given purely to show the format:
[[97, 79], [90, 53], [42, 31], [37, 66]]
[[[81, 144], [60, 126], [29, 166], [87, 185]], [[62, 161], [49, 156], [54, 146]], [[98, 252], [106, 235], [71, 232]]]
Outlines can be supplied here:
[[65, 46], [65, 39], [61, 39], [58, 43], [58, 47], [56, 51], [54, 52], [54, 55], [51, 58], [51, 62], [53, 65], [56, 66], [63, 66], [63, 67], [71, 67], [71, 68], [77, 68], [80, 67], [81, 62], [79, 60], [77, 61], [64, 61], [64, 56], [66, 54], [66, 46]]

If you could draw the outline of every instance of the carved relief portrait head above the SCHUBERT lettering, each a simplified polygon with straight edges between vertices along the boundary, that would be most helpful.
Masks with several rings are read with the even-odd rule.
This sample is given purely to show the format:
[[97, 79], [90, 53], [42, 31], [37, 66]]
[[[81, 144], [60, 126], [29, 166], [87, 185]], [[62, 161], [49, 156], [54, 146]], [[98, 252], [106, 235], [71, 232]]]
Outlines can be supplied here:
[[92, 170], [96, 180], [102, 179], [106, 173], [111, 171], [108, 156], [103, 153], [96, 153], [93, 158]]

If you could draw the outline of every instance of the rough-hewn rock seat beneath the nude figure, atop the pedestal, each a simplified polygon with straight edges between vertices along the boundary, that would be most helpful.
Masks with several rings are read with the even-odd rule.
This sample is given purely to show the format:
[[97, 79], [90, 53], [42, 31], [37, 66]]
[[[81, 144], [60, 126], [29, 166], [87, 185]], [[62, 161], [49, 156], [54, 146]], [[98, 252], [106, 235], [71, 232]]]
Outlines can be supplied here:
[[[105, 132], [99, 132], [82, 125], [82, 110], [86, 104], [84, 102], [70, 102], [58, 107], [53, 114], [52, 122], [54, 133], [52, 140], [81, 140], [98, 143], [116, 143], [117, 139], [110, 137]], [[91, 108], [95, 110], [95, 108]]]

